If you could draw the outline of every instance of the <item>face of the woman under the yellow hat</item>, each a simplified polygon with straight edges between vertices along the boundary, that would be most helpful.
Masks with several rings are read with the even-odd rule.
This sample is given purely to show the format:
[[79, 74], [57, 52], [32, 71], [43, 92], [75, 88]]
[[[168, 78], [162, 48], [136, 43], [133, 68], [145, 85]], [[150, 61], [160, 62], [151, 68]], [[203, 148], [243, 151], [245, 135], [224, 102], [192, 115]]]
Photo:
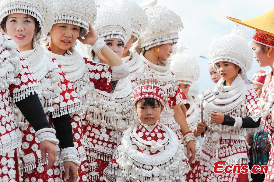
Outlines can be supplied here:
[[262, 50], [262, 47], [259, 44], [256, 44], [254, 41], [252, 41], [252, 49], [254, 51], [254, 58], [259, 63], [260, 67], [272, 65], [271, 61], [268, 61], [269, 58], [267, 56], [267, 53]]

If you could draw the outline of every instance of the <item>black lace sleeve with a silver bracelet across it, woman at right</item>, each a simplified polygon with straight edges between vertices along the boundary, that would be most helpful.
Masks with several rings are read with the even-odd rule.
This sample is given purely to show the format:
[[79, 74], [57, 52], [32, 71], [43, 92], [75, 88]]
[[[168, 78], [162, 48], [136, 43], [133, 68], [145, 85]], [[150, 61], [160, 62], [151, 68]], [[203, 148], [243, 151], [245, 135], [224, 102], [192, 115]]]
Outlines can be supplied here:
[[[251, 117], [242, 117], [243, 125], [241, 128], [258, 128], [260, 126], [261, 117], [257, 122], [253, 121]], [[235, 118], [224, 115], [222, 125], [234, 126]]]

